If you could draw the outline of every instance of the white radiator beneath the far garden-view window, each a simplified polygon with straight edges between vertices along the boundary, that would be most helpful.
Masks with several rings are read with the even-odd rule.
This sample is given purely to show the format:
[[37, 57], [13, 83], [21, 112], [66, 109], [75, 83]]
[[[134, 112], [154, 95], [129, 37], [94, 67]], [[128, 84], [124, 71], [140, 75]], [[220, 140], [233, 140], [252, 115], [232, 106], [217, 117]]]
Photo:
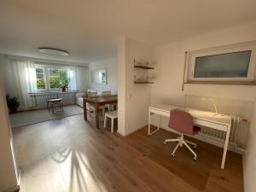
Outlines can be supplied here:
[[76, 102], [76, 93], [76, 91], [31, 93], [32, 108], [46, 108], [47, 100], [53, 98], [62, 98], [64, 105], [74, 104]]

